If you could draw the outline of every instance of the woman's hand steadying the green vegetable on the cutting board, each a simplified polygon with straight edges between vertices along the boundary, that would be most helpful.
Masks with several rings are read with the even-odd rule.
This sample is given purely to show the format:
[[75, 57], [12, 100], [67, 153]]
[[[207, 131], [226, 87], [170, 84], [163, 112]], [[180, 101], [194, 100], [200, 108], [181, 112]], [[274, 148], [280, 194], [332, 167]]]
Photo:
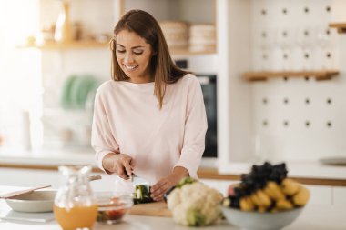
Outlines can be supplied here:
[[151, 197], [154, 201], [163, 200], [163, 195], [186, 176], [188, 176], [188, 169], [181, 166], [175, 167], [170, 175], [159, 179], [155, 185], [152, 185]]

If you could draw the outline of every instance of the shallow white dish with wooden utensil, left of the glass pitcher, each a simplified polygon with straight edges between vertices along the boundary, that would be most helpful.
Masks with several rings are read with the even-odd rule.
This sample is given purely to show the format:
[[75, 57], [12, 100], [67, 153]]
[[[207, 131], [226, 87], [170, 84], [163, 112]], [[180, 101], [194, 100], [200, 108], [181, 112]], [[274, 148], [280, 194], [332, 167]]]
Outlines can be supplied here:
[[7, 205], [17, 212], [44, 213], [52, 212], [56, 191], [34, 191], [29, 194], [17, 195], [5, 199]]

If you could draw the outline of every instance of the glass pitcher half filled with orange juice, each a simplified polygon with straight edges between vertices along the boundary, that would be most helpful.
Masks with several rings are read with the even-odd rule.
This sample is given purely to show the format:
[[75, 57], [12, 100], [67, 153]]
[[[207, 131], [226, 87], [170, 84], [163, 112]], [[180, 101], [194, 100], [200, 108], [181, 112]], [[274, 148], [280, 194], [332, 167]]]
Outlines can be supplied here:
[[59, 171], [66, 183], [56, 193], [54, 215], [65, 230], [89, 228], [97, 220], [97, 203], [89, 185], [90, 165], [64, 165]]

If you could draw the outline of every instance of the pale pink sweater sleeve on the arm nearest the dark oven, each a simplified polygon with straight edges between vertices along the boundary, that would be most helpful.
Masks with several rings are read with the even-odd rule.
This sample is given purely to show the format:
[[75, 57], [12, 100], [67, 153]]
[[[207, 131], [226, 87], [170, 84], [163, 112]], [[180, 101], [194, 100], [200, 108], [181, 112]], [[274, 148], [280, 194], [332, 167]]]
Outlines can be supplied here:
[[184, 141], [175, 166], [185, 167], [189, 176], [197, 178], [198, 166], [205, 148], [208, 122], [201, 86], [196, 76], [192, 79], [188, 85]]

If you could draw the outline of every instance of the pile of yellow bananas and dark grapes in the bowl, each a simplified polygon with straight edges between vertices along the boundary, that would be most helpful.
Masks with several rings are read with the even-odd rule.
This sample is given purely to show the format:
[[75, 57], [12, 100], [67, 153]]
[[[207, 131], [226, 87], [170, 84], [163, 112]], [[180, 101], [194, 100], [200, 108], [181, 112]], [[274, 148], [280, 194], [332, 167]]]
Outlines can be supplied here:
[[224, 206], [243, 211], [278, 212], [306, 205], [309, 190], [287, 178], [285, 164], [254, 165], [247, 175], [241, 176], [241, 183], [232, 185]]

